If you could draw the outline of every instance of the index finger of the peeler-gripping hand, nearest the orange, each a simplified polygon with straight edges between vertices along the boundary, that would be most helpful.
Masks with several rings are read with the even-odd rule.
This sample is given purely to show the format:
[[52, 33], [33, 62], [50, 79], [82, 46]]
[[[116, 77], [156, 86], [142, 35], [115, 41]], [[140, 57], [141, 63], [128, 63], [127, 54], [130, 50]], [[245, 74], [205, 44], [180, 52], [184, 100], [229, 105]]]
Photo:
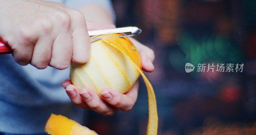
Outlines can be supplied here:
[[72, 63], [86, 63], [90, 58], [91, 40], [82, 12], [67, 9], [71, 19], [73, 56]]

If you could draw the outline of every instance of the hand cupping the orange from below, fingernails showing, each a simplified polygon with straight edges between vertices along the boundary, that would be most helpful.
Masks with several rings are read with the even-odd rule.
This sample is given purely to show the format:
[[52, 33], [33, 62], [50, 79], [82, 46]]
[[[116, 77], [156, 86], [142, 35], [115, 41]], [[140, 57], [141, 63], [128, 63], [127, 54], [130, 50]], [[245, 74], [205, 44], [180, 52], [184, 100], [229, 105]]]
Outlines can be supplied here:
[[[140, 52], [142, 69], [147, 72], [153, 72], [154, 52], [137, 40], [132, 38], [131, 40]], [[69, 98], [75, 105], [85, 109], [92, 109], [105, 116], [115, 114], [118, 109], [123, 111], [131, 110], [137, 100], [139, 89], [138, 81], [125, 94], [106, 88], [100, 92], [101, 99], [92, 89], [83, 88], [79, 91], [75, 85], [71, 84], [70, 80], [65, 80], [61, 85], [66, 89]]]

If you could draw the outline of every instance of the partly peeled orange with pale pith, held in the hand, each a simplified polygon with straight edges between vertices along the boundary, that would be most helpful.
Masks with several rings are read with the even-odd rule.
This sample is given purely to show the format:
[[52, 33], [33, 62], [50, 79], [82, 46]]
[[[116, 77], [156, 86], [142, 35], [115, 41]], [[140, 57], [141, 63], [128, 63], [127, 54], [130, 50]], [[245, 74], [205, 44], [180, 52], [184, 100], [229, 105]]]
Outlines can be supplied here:
[[85, 64], [71, 64], [70, 80], [79, 90], [87, 87], [100, 95], [102, 89], [113, 88], [125, 93], [138, 79], [140, 73], [136, 65], [141, 68], [139, 52], [128, 38], [118, 38], [117, 35], [109, 35], [108, 42], [116, 44], [130, 56], [124, 56], [108, 42], [92, 42], [90, 60]]

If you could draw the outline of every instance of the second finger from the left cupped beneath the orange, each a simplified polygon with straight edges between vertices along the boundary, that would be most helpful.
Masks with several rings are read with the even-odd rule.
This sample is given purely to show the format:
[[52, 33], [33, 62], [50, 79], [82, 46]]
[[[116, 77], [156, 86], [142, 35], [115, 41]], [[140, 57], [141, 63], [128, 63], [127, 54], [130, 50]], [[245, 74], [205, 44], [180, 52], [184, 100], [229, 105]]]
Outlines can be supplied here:
[[76, 88], [75, 85], [69, 84], [66, 87], [66, 92], [68, 94], [68, 97], [71, 99], [71, 101], [77, 105], [78, 107], [82, 107], [85, 109], [88, 109], [89, 107], [84, 103], [83, 99], [79, 95], [79, 90]]

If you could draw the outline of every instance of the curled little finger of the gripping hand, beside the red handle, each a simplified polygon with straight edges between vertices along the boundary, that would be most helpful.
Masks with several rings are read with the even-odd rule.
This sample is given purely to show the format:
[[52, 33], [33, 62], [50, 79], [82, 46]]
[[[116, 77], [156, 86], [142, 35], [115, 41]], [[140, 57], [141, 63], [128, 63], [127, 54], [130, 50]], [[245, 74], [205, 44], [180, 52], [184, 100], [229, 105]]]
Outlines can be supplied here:
[[16, 43], [12, 46], [13, 59], [20, 65], [28, 65], [32, 58], [34, 47], [30, 43]]

